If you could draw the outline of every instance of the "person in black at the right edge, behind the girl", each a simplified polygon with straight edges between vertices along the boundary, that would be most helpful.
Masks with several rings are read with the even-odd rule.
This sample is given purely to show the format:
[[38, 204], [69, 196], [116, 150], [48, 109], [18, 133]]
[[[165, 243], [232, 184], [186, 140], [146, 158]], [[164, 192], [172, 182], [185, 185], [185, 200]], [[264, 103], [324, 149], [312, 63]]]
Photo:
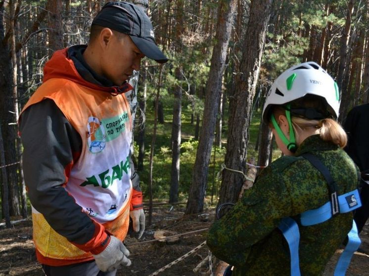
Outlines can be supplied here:
[[344, 129], [348, 144], [344, 148], [361, 171], [360, 197], [362, 207], [355, 211], [359, 233], [369, 217], [369, 104], [354, 107], [347, 115]]

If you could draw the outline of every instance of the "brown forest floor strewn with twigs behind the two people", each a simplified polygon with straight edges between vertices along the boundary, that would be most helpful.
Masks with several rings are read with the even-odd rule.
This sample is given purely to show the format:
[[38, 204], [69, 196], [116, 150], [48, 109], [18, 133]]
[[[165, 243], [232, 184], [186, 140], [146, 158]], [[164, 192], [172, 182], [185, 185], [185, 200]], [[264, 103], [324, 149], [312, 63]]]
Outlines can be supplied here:
[[[152, 225], [146, 228], [144, 236], [139, 240], [126, 238], [126, 244], [131, 252], [132, 266], [118, 271], [118, 276], [149, 276], [160, 268], [178, 259], [206, 239], [206, 231], [192, 233], [180, 237], [179, 241], [145, 242], [153, 239], [155, 231], [165, 230], [174, 233], [186, 233], [207, 228], [214, 218], [214, 208], [207, 209], [202, 214], [184, 216], [185, 205], [154, 206]], [[147, 214], [146, 214], [147, 219]], [[361, 249], [366, 252], [356, 252], [352, 258], [347, 276], [369, 276], [369, 224], [361, 233]], [[342, 250], [336, 251], [328, 263], [324, 276], [333, 275], [335, 263]], [[205, 247], [197, 250], [183, 261], [168, 268], [158, 275], [162, 276], [205, 276], [209, 275], [206, 264], [197, 272], [193, 269], [208, 256]], [[41, 265], [37, 263], [32, 242], [32, 222], [30, 220], [15, 224], [12, 229], [0, 228], [0, 276], [42, 276]]]

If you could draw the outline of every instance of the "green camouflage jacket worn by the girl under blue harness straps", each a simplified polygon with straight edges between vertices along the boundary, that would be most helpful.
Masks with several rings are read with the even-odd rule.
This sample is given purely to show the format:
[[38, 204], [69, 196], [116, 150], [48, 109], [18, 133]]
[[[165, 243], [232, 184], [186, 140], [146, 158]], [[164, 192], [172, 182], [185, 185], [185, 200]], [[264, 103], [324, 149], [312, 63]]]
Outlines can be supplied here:
[[[338, 195], [357, 188], [358, 170], [352, 159], [319, 135], [307, 138], [295, 156], [278, 158], [209, 230], [209, 248], [235, 267], [233, 276], [290, 275], [288, 244], [277, 229], [280, 220], [297, 219], [300, 213], [329, 200], [322, 173], [300, 156], [303, 153], [320, 158], [337, 183]], [[338, 214], [318, 225], [298, 225], [301, 275], [322, 275], [325, 264], [352, 227], [352, 213]]]

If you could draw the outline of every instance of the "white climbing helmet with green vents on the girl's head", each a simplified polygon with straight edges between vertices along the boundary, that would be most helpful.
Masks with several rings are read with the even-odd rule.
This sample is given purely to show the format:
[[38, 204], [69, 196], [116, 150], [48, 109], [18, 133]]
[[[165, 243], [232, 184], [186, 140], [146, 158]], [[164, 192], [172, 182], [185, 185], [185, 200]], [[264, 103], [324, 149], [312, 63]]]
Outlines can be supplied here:
[[337, 83], [317, 63], [309, 61], [284, 71], [268, 92], [263, 109], [263, 120], [267, 118], [272, 105], [282, 105], [304, 97], [307, 94], [325, 99], [328, 112], [338, 118], [340, 105]]

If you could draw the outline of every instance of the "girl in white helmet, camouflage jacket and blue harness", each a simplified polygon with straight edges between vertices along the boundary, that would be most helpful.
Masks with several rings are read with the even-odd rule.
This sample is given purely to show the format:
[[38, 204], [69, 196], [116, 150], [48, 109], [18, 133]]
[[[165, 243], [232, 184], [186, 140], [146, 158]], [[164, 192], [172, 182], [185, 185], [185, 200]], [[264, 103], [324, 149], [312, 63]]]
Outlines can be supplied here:
[[[350, 238], [335, 275], [344, 275], [358, 243], [352, 210], [360, 206], [358, 169], [342, 150], [339, 91], [315, 62], [293, 66], [272, 85], [263, 109], [284, 154], [265, 168], [209, 230], [207, 244], [232, 275], [322, 275]], [[351, 252], [350, 250], [351, 249]]]

